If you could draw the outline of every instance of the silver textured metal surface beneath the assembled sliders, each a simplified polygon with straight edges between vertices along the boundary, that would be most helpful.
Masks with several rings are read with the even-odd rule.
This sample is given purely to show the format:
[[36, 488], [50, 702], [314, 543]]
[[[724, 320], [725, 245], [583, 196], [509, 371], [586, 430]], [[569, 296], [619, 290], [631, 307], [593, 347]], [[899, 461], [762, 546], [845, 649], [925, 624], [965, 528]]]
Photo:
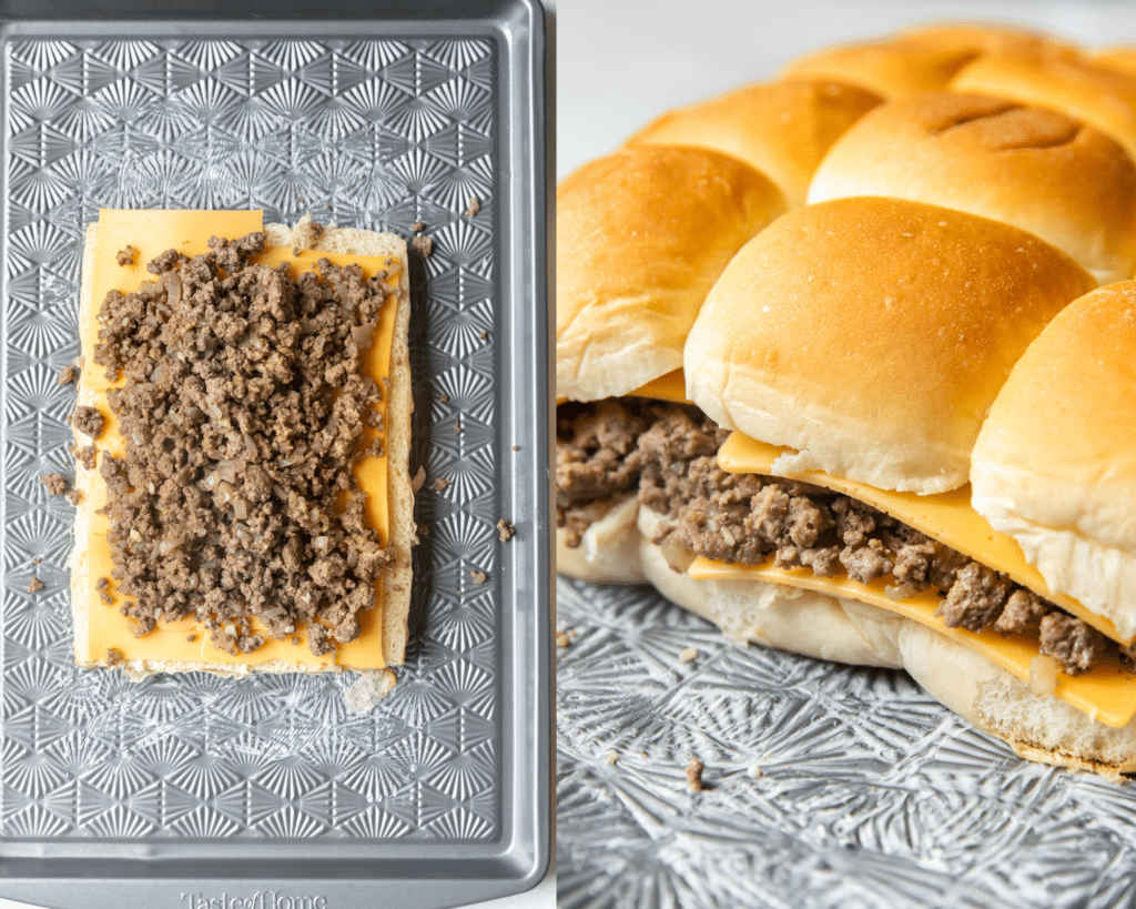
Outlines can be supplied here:
[[646, 587], [561, 579], [557, 614], [563, 909], [1136, 904], [1131, 786], [1020, 760], [903, 673], [735, 644]]

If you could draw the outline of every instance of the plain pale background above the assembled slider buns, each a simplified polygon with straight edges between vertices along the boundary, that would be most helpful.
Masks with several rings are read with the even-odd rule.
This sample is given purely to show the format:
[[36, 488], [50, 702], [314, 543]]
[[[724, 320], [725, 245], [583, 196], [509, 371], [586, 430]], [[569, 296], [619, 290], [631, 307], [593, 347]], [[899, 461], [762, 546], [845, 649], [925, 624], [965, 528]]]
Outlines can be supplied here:
[[1133, 0], [559, 0], [557, 175], [669, 108], [772, 78], [803, 51], [960, 19], [1033, 24], [1093, 45], [1136, 42]]

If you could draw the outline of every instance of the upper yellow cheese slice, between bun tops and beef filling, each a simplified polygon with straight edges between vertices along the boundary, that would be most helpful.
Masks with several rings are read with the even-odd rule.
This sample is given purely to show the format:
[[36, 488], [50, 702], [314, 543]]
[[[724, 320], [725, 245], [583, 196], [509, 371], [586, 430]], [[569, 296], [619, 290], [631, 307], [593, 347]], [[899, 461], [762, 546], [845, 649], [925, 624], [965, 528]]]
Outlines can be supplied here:
[[[735, 432], [730, 433], [729, 439], [718, 450], [718, 464], [722, 470], [730, 474], [771, 474], [774, 461], [787, 452], [788, 449], [758, 442]], [[834, 492], [842, 492], [885, 511], [933, 540], [938, 540], [951, 549], [1009, 575], [1018, 584], [1084, 619], [1113, 641], [1131, 643], [1133, 639], [1122, 639], [1116, 625], [1109, 619], [1089, 611], [1071, 597], [1051, 592], [1041, 572], [1026, 561], [1018, 542], [1009, 534], [995, 531], [986, 518], [970, 507], [969, 485], [936, 495], [917, 495], [913, 492], [876, 489], [866, 483], [832, 476], [820, 470], [807, 470], [792, 476]]]

